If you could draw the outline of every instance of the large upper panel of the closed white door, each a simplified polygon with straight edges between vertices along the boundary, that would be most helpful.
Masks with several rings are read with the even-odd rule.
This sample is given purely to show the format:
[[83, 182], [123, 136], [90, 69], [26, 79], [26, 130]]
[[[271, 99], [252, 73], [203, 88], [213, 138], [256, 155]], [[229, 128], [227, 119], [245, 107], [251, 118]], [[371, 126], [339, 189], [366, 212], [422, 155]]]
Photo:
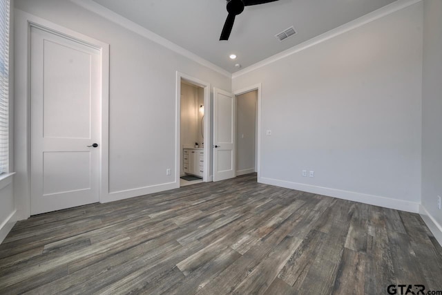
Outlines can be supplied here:
[[45, 39], [43, 62], [44, 137], [89, 139], [90, 54]]

